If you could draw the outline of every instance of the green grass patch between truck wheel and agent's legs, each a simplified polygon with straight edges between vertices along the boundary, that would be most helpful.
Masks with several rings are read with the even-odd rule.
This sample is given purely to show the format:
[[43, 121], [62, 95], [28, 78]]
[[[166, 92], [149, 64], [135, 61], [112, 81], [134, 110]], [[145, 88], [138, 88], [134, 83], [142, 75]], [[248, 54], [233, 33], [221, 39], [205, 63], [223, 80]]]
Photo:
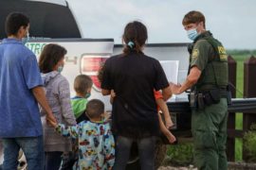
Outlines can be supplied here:
[[189, 165], [192, 164], [192, 143], [168, 145], [167, 158], [164, 164]]

